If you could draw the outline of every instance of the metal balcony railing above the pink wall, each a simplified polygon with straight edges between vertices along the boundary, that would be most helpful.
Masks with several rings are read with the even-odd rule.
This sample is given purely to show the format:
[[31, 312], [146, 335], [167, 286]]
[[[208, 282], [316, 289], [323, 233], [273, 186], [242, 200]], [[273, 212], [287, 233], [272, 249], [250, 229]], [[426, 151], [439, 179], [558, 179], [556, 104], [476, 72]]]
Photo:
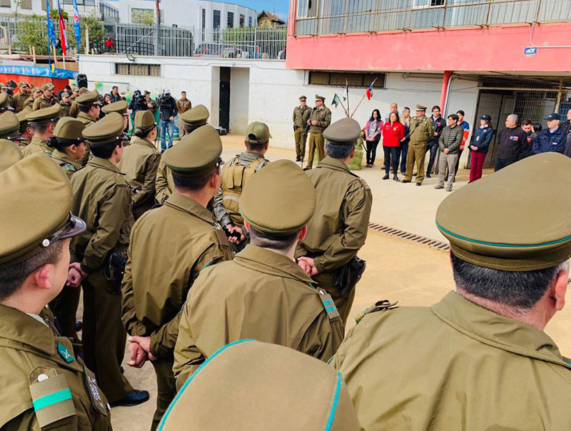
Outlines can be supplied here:
[[571, 19], [570, 0], [299, 0], [297, 35]]

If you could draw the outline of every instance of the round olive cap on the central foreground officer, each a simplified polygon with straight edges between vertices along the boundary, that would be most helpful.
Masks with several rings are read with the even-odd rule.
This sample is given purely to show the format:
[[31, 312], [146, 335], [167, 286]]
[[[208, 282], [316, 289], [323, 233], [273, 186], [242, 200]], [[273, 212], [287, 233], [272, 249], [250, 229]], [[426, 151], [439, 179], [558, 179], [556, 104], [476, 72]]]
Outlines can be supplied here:
[[290, 235], [311, 219], [315, 202], [315, 188], [302, 168], [279, 160], [249, 179], [240, 197], [240, 213], [258, 231]]

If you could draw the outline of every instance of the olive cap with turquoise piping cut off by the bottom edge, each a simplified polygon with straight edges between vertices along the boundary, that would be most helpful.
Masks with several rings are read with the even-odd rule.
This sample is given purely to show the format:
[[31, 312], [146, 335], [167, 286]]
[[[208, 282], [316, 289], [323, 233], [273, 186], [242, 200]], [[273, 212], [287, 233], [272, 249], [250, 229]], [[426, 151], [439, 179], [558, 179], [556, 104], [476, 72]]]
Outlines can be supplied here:
[[158, 429], [359, 431], [360, 427], [335, 368], [283, 345], [246, 339], [219, 349], [191, 375]]

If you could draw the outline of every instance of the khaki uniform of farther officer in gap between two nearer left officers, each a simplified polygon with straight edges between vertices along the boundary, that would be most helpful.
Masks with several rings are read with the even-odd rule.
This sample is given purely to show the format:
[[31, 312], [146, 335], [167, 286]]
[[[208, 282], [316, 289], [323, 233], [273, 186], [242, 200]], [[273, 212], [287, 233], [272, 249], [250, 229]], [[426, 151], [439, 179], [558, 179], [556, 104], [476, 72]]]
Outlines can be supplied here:
[[134, 136], [123, 151], [117, 168], [125, 173], [127, 183], [134, 188], [133, 217], [139, 219], [155, 205], [155, 179], [161, 154], [150, 140]]

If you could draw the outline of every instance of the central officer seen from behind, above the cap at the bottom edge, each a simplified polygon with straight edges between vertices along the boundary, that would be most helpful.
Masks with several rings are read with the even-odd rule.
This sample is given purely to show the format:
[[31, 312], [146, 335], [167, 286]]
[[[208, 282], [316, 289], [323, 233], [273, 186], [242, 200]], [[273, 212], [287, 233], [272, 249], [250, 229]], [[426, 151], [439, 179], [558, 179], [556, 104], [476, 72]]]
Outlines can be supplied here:
[[250, 179], [240, 211], [251, 243], [233, 261], [202, 270], [182, 309], [173, 366], [178, 388], [219, 348], [244, 338], [323, 361], [336, 352], [343, 322], [294, 259], [314, 210], [313, 185], [292, 161], [270, 163]]

